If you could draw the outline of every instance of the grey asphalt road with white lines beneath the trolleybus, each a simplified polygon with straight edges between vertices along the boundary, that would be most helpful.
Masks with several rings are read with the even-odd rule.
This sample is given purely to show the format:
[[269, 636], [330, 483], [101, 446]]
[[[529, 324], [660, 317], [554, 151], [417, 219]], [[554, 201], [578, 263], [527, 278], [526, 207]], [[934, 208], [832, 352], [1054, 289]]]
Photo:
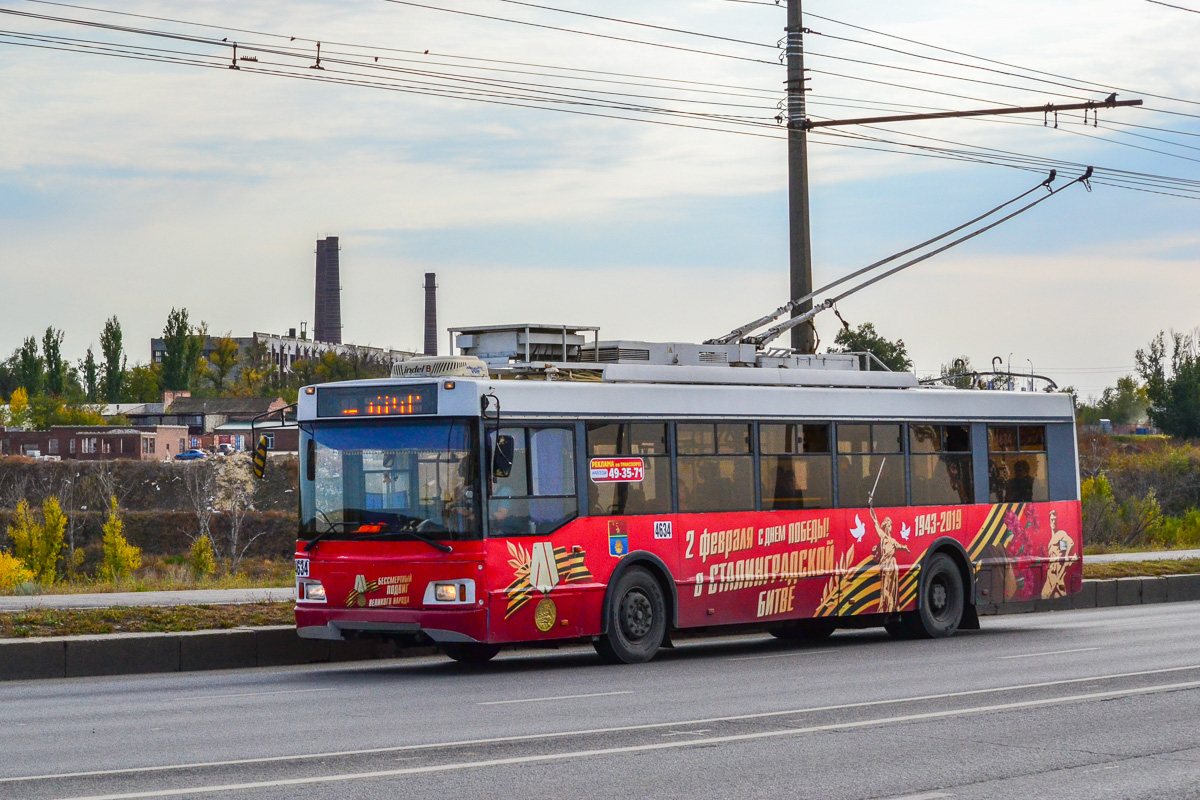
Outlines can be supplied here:
[[1200, 603], [983, 625], [0, 684], [0, 798], [1200, 796]]

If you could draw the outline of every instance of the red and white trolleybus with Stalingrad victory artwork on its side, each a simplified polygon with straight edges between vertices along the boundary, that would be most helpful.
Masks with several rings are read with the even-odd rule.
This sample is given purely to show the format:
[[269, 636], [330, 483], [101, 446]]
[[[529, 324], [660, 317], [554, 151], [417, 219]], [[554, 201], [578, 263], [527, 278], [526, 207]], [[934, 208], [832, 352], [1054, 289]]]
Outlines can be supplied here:
[[300, 392], [301, 637], [640, 662], [686, 628], [944, 637], [1080, 589], [1067, 395], [562, 336]]

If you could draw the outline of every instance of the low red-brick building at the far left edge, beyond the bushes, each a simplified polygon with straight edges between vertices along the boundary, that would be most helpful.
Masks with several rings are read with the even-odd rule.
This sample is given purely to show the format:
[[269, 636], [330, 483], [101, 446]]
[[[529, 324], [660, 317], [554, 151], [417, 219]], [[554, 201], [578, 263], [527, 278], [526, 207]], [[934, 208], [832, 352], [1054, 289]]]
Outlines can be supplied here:
[[187, 450], [184, 426], [54, 426], [49, 431], [0, 429], [0, 452], [78, 461], [170, 461]]

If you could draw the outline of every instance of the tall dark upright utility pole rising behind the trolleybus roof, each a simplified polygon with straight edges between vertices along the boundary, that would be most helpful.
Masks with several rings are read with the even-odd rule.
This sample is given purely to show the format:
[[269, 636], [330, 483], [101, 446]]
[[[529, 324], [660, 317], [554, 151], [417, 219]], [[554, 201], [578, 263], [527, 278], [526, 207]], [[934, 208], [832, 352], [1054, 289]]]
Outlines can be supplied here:
[[[800, 0], [787, 0], [787, 200], [792, 297], [812, 291], [812, 242], [809, 222], [809, 136], [804, 103], [804, 23]], [[811, 311], [808, 301], [792, 317]], [[812, 353], [810, 325], [792, 329], [792, 348]]]

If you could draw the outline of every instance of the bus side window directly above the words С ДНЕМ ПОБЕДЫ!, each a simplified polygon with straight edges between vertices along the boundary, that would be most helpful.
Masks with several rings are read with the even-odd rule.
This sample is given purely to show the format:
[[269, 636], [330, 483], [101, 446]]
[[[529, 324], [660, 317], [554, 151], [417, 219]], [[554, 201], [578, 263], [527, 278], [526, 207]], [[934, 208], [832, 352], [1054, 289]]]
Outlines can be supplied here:
[[833, 507], [830, 425], [758, 425], [763, 511]]

